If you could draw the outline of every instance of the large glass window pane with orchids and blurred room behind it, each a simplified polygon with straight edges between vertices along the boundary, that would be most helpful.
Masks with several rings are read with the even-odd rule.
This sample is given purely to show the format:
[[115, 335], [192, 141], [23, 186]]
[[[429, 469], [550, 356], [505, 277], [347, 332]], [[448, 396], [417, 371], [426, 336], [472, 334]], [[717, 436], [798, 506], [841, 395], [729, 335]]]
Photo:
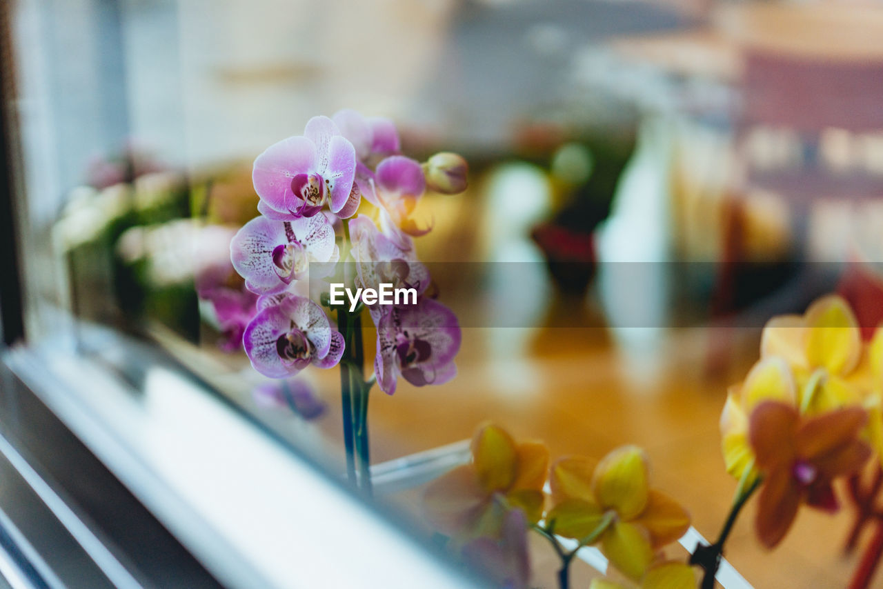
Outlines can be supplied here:
[[[879, 418], [876, 381], [819, 391], [876, 374], [880, 22], [825, 2], [20, 0], [29, 344], [125, 364], [108, 335], [147, 343], [509, 586], [563, 583], [571, 540], [592, 546], [574, 586], [608, 560], [641, 582], [774, 472], [746, 467], [740, 391]], [[761, 339], [781, 362], [756, 364]], [[637, 478], [613, 499], [604, 457]], [[670, 506], [671, 541], [616, 527], [650, 509], [623, 503], [645, 461], [691, 512]], [[568, 512], [586, 503], [597, 525]], [[817, 541], [848, 517], [784, 540], [751, 517], [727, 587], [851, 574]]]

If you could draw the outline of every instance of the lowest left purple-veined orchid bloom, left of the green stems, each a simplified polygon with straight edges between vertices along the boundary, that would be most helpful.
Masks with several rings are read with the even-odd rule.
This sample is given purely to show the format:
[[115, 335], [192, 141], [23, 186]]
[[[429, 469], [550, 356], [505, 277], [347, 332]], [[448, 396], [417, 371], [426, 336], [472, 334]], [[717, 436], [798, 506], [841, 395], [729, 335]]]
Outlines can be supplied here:
[[336, 366], [343, 336], [331, 327], [321, 307], [305, 297], [261, 297], [259, 313], [245, 328], [245, 354], [260, 374], [286, 378], [306, 366]]

